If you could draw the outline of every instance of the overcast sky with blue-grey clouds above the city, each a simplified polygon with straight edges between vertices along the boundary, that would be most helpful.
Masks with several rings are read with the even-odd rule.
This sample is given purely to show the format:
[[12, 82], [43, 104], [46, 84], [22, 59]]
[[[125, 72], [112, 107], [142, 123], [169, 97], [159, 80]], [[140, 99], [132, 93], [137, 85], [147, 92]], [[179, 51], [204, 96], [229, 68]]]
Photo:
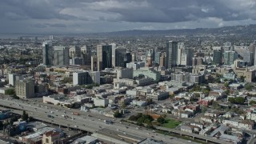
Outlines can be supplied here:
[[0, 33], [94, 33], [256, 24], [256, 0], [1, 0]]

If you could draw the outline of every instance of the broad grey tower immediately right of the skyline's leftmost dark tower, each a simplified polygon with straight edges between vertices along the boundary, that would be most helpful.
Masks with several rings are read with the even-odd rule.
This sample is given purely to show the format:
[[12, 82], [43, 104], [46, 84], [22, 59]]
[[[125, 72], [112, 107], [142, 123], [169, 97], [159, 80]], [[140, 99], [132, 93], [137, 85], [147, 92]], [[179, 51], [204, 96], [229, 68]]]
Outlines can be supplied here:
[[67, 66], [69, 64], [69, 49], [65, 46], [54, 46], [54, 66]]

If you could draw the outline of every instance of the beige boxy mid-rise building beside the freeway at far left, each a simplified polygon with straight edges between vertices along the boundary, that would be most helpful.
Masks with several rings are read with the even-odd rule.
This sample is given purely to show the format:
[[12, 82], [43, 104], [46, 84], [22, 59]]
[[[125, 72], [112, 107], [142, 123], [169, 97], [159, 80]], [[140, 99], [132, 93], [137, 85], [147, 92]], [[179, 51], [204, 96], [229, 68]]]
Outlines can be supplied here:
[[16, 81], [15, 92], [19, 98], [34, 98], [34, 81]]

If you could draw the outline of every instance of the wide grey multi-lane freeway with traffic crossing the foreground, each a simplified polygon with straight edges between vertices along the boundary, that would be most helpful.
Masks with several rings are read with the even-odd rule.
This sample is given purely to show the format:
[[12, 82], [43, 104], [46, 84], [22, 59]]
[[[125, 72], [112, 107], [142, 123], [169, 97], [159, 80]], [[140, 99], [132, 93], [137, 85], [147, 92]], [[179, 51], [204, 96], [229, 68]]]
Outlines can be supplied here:
[[[134, 125], [124, 126], [122, 123], [119, 123], [118, 120], [115, 121], [114, 124], [109, 125], [104, 122], [104, 119], [110, 118], [100, 114], [90, 114], [90, 116], [88, 116], [86, 113], [81, 113], [81, 115], [74, 115], [70, 112], [71, 110], [67, 110], [66, 108], [58, 107], [58, 109], [56, 109], [51, 106], [38, 105], [37, 102], [29, 103], [19, 100], [10, 100], [8, 98], [2, 99], [0, 101], [0, 105], [18, 110], [26, 110], [30, 116], [41, 121], [51, 122], [60, 126], [67, 126], [78, 130], [85, 130], [91, 133], [97, 133], [104, 129], [118, 131], [119, 134], [127, 134], [127, 136], [130, 135], [136, 138], [154, 138], [158, 141], [162, 140], [165, 143], [191, 143], [180, 138], [174, 138], [163, 134], [155, 134], [151, 130], [146, 130], [144, 128], [138, 130], [138, 127]], [[48, 118], [47, 115], [49, 114], [54, 118]], [[66, 115], [68, 118], [63, 118], [62, 115]]]

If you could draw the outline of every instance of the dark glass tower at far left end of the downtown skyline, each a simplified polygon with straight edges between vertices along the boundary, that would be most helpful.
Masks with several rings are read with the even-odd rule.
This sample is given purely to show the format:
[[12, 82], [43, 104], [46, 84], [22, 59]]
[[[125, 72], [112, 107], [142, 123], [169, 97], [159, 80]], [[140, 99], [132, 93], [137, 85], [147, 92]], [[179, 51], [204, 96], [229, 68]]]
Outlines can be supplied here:
[[42, 63], [44, 66], [52, 66], [54, 57], [53, 51], [50, 41], [42, 43]]

